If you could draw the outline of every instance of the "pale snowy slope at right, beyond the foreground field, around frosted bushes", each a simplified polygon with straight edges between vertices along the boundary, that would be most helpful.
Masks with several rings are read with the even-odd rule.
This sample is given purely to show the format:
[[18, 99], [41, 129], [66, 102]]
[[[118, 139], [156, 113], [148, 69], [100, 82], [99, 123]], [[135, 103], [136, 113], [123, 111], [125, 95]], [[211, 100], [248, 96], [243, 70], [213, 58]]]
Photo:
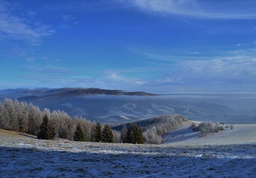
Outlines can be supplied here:
[[233, 145], [256, 144], [256, 124], [234, 124], [234, 129], [198, 137], [199, 132], [189, 126], [193, 121], [184, 121], [179, 127], [164, 135], [162, 144], [175, 145]]

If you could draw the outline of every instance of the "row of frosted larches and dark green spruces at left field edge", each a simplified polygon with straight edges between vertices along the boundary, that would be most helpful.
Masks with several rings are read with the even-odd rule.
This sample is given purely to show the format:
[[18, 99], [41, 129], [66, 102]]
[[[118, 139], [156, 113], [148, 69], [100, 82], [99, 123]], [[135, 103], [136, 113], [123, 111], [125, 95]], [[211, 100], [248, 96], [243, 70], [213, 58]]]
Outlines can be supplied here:
[[[123, 135], [112, 130], [108, 124], [95, 123], [85, 118], [71, 118], [64, 111], [45, 108], [17, 99], [4, 99], [0, 103], [0, 129], [37, 135], [39, 139], [69, 139], [82, 142], [108, 142], [144, 144], [141, 127], [130, 124]], [[125, 139], [122, 139], [125, 137]]]

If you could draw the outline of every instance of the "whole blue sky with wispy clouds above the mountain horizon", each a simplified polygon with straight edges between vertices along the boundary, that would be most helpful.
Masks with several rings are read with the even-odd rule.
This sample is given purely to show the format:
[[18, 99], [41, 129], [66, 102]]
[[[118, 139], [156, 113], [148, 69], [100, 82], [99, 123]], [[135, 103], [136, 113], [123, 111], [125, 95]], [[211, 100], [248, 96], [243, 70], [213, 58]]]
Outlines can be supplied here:
[[0, 1], [6, 88], [255, 92], [256, 1]]

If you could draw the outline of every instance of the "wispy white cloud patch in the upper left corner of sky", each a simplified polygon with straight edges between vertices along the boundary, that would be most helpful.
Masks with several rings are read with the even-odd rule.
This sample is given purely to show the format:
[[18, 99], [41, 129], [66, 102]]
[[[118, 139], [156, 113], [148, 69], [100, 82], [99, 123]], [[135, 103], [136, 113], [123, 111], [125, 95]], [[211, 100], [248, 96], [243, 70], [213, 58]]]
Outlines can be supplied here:
[[35, 12], [29, 11], [27, 15], [19, 12], [15, 6], [7, 1], [1, 1], [0, 34], [1, 40], [14, 39], [25, 41], [28, 45], [39, 46], [43, 39], [51, 36], [55, 30], [41, 21], [32, 21]]

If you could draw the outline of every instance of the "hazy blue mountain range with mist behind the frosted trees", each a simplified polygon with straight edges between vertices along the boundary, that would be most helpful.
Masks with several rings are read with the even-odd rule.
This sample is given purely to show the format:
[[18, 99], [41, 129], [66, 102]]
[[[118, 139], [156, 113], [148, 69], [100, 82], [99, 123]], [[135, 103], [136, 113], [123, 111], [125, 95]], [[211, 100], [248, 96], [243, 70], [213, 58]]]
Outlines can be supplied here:
[[0, 90], [4, 98], [33, 103], [41, 110], [45, 107], [64, 110], [70, 116], [104, 123], [130, 122], [162, 114], [182, 114], [189, 120], [211, 120], [225, 123], [255, 122], [254, 111], [210, 103], [184, 101], [168, 95], [147, 92], [126, 92], [99, 88], [37, 88]]

